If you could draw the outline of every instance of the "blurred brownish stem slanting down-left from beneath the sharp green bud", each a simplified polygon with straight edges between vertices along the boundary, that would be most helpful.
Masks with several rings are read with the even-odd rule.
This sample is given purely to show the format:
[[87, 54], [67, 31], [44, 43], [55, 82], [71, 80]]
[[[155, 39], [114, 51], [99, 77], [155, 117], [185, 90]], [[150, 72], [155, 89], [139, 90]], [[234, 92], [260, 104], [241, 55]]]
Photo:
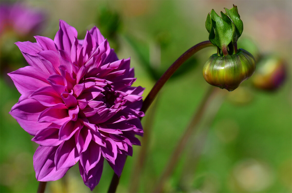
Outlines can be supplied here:
[[180, 158], [181, 153], [183, 152], [187, 141], [190, 136], [192, 136], [192, 133], [197, 130], [197, 125], [200, 122], [203, 114], [206, 111], [206, 108], [208, 106], [208, 103], [210, 102], [211, 98], [213, 97], [215, 93], [215, 87], [210, 87], [209, 90], [206, 92], [205, 96], [203, 97], [203, 100], [200, 103], [199, 108], [197, 109], [192, 121], [190, 122], [189, 126], [185, 130], [185, 133], [180, 138], [180, 141], [175, 147], [175, 150], [173, 151], [170, 159], [168, 159], [168, 164], [164, 168], [164, 171], [157, 182], [156, 188], [153, 192], [162, 192], [162, 189], [164, 187], [164, 184], [168, 177], [172, 174], [173, 170], [175, 169], [175, 165], [178, 162], [178, 159]]

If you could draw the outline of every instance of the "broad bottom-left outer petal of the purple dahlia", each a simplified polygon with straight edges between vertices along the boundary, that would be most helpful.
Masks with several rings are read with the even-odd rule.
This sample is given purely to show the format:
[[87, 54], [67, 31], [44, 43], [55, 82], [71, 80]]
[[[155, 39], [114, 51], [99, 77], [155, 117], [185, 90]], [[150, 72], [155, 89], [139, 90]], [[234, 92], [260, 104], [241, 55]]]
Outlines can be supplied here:
[[40, 145], [34, 153], [34, 170], [38, 181], [54, 181], [62, 178], [69, 168], [56, 171], [54, 158], [58, 146], [47, 147]]

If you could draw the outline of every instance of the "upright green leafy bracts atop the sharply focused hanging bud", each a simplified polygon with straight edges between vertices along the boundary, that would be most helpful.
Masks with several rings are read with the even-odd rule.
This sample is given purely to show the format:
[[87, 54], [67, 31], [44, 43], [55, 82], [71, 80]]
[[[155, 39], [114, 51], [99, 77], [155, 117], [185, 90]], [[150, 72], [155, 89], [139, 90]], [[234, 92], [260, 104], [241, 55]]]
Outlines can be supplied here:
[[222, 50], [223, 55], [226, 56], [236, 54], [236, 43], [242, 34], [243, 23], [238, 14], [237, 6], [233, 5], [230, 10], [224, 9], [226, 13], [221, 11], [221, 17], [212, 9], [207, 15], [205, 26], [209, 32], [211, 43]]

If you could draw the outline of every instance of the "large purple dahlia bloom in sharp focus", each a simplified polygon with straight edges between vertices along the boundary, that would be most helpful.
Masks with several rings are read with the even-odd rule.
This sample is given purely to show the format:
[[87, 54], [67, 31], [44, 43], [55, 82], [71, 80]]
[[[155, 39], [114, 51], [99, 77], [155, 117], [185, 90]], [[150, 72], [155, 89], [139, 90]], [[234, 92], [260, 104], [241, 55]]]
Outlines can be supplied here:
[[8, 74], [22, 94], [10, 114], [39, 144], [38, 181], [58, 180], [79, 161], [93, 190], [104, 158], [120, 176], [132, 145], [140, 145], [144, 88], [131, 86], [130, 59], [119, 60], [97, 27], [78, 40], [76, 29], [60, 20], [54, 40], [35, 38], [15, 43], [29, 66]]

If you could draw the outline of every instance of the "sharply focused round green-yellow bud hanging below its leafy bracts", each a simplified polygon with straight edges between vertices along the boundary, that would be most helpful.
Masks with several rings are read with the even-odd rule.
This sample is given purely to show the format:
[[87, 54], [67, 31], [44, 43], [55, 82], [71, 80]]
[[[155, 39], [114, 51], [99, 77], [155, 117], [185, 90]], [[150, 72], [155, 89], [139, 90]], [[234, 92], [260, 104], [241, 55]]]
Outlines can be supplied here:
[[213, 54], [203, 67], [203, 76], [210, 85], [232, 91], [250, 78], [255, 70], [256, 61], [253, 55], [239, 49], [233, 55]]

